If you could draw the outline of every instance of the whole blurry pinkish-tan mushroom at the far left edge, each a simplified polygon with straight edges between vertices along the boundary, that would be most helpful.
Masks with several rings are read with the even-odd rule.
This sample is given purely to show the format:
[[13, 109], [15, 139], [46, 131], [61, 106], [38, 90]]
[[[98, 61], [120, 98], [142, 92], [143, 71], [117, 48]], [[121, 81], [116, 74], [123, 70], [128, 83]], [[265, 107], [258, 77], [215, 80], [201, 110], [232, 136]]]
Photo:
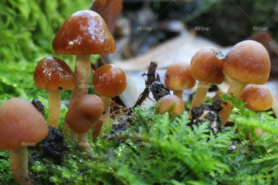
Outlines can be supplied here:
[[0, 132], [0, 150], [10, 151], [12, 176], [20, 185], [32, 185], [27, 147], [47, 136], [45, 119], [28, 101], [12, 98], [0, 107]]

